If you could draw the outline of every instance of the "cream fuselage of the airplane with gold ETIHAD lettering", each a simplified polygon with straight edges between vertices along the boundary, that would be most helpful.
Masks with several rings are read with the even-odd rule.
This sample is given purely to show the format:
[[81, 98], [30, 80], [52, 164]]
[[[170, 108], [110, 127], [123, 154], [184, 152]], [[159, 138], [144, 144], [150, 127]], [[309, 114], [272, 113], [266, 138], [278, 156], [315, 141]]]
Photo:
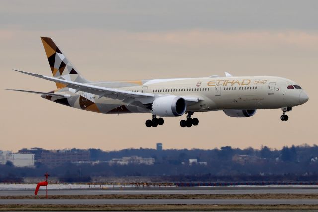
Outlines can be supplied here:
[[[95, 82], [91, 84], [138, 93], [198, 98], [198, 102], [187, 105], [187, 112], [275, 109], [297, 106], [308, 100], [308, 96], [303, 89], [287, 88], [289, 85], [298, 85], [296, 82], [273, 76], [153, 79], [135, 82], [136, 85], [126, 87], [124, 82]], [[61, 89], [56, 93], [62, 92], [65, 94], [71, 90], [73, 89]], [[109, 110], [122, 105], [125, 105], [129, 112], [133, 113], [151, 112], [147, 108], [130, 106], [129, 103], [123, 103], [118, 99], [98, 98], [98, 95], [81, 91], [77, 93], [71, 91], [71, 95], [81, 95], [98, 105], [104, 105], [105, 110], [100, 110], [102, 113], [109, 113]], [[83, 109], [76, 102], [73, 107]], [[118, 113], [125, 112], [127, 111], [118, 111]]]

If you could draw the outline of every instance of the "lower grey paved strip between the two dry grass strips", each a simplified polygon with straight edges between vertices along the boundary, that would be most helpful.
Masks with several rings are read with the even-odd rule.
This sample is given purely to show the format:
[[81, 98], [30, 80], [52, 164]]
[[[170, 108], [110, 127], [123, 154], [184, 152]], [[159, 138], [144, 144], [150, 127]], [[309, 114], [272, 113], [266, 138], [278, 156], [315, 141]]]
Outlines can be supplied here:
[[0, 199], [0, 204], [70, 204], [70, 205], [127, 205], [127, 204], [306, 204], [317, 205], [318, 199]]

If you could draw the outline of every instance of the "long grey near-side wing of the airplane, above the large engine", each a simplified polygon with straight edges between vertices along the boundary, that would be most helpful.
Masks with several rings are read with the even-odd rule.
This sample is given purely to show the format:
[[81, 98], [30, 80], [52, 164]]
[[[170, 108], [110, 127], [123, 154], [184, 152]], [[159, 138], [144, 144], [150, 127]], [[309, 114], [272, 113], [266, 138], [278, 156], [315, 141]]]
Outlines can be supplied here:
[[[64, 79], [53, 78], [53, 77], [49, 77], [49, 76], [43, 76], [43, 75], [39, 75], [39, 74], [35, 74], [35, 73], [28, 73], [28, 72], [19, 71], [19, 70], [14, 70], [14, 71], [18, 71], [20, 73], [24, 73], [24, 74], [31, 75], [34, 77], [38, 77], [41, 79], [65, 84], [66, 87], [75, 89], [75, 92], [84, 91], [87, 93], [92, 93], [92, 94], [98, 95], [99, 98], [108, 97], [108, 98], [112, 98], [112, 99], [119, 99], [125, 103], [133, 103], [134, 101], [139, 101], [142, 104], [150, 104], [155, 100], [155, 98], [157, 98], [159, 96], [164, 96], [164, 95], [160, 95], [160, 94], [139, 93], [139, 92], [131, 92], [131, 91], [126, 91], [126, 90], [100, 87], [100, 86], [95, 86], [95, 85], [90, 85], [90, 84], [68, 81], [68, 80], [64, 80]], [[199, 99], [196, 97], [182, 97], [182, 98], [184, 98], [189, 103], [199, 101]]]

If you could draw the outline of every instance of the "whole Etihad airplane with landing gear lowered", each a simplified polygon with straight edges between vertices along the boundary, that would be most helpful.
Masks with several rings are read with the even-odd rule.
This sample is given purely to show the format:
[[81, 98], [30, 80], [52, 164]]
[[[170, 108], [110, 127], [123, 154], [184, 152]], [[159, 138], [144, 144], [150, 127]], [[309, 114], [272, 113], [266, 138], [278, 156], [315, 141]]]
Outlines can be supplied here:
[[[258, 109], [286, 112], [304, 104], [309, 97], [296, 82], [275, 76], [239, 76], [225, 72], [225, 77], [167, 78], [132, 81], [91, 82], [66, 58], [54, 41], [41, 37], [53, 77], [19, 71], [53, 81], [51, 92], [8, 89], [40, 94], [62, 105], [105, 114], [151, 113], [147, 127], [163, 125], [162, 117], [179, 117], [181, 127], [199, 124], [191, 118], [195, 112], [222, 110], [230, 117], [251, 117]], [[159, 118], [158, 118], [159, 117]]]

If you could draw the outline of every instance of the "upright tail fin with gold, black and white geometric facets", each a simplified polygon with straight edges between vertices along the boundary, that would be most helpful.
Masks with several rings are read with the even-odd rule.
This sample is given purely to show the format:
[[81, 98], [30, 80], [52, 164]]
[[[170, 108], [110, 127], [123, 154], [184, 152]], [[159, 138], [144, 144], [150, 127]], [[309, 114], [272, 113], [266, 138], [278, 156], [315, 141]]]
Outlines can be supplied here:
[[[51, 38], [41, 37], [41, 40], [54, 78], [79, 83], [89, 82], [75, 69]], [[65, 85], [56, 82], [56, 87], [62, 88]]]

